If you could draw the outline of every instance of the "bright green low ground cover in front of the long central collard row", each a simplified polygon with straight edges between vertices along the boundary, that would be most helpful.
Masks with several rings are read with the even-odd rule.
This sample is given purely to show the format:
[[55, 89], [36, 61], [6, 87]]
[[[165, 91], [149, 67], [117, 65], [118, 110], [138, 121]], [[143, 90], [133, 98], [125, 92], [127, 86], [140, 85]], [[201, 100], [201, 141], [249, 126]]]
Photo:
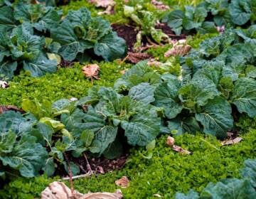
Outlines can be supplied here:
[[[166, 146], [166, 136], [161, 136], [156, 140], [152, 158], [142, 157], [145, 149], [132, 149], [126, 166], [120, 171], [77, 179], [74, 187], [81, 193], [113, 192], [119, 188], [114, 181], [127, 176], [130, 186], [122, 189], [124, 198], [154, 198], [156, 193], [164, 198], [174, 198], [177, 191], [187, 193], [191, 188], [201, 193], [209, 182], [238, 178], [244, 161], [255, 158], [256, 131], [248, 131], [242, 138], [239, 144], [220, 146], [220, 142], [213, 136], [175, 136], [178, 146], [193, 152], [185, 156]], [[46, 176], [16, 179], [6, 185], [0, 194], [3, 198], [39, 197], [41, 191], [53, 180]]]

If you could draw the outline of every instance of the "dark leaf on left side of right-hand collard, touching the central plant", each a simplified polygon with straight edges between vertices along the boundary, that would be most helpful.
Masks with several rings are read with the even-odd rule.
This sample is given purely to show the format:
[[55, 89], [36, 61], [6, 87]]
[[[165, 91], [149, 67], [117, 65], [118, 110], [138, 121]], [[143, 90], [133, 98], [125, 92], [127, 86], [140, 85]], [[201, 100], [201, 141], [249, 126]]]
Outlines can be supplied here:
[[181, 87], [181, 82], [178, 80], [169, 80], [163, 82], [159, 87], [156, 87], [154, 97], [156, 107], [163, 107], [164, 114], [167, 118], [172, 119], [177, 116], [183, 109], [183, 106], [178, 99], [178, 89]]

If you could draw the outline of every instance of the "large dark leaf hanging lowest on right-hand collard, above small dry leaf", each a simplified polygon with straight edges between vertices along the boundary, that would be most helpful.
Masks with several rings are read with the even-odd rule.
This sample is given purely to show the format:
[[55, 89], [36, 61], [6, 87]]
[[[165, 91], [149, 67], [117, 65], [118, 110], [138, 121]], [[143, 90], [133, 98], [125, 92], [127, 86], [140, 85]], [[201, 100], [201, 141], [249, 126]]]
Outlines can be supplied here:
[[233, 127], [231, 106], [222, 97], [210, 99], [196, 119], [203, 125], [203, 132], [223, 138], [229, 129]]

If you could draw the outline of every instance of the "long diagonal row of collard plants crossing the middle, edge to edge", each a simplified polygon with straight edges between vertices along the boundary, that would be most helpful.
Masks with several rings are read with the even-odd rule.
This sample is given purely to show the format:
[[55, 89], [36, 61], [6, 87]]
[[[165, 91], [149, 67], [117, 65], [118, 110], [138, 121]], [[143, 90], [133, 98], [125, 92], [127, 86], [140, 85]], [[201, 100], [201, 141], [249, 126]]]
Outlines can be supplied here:
[[230, 29], [203, 41], [173, 73], [160, 74], [142, 61], [114, 87], [92, 87], [78, 101], [23, 99], [27, 114], [0, 115], [1, 176], [33, 177], [42, 170], [52, 176], [59, 164], [67, 169], [66, 153], [114, 158], [126, 142], [151, 146], [161, 133], [225, 138], [238, 117], [232, 112], [256, 116], [255, 31]]

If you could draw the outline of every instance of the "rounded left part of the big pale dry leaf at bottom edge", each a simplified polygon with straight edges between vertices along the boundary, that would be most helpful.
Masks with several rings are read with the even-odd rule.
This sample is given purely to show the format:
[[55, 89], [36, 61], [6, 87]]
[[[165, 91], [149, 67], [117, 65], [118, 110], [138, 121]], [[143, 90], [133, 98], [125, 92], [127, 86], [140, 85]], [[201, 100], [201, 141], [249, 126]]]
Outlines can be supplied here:
[[72, 191], [64, 183], [53, 182], [41, 193], [41, 199], [70, 199], [70, 198], [81, 198], [82, 193]]

